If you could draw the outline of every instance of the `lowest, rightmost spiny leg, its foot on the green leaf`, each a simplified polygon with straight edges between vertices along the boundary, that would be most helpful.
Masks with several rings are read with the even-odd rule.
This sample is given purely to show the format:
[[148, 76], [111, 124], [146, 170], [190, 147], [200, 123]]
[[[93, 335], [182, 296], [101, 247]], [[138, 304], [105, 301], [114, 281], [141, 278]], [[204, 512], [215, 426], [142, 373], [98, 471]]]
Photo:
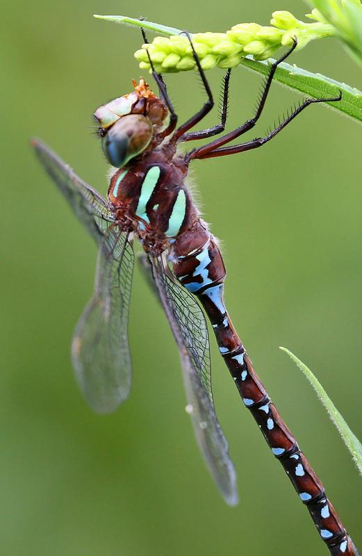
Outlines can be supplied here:
[[317, 104], [318, 102], [337, 102], [340, 101], [341, 98], [342, 98], [342, 92], [340, 91], [338, 97], [334, 97], [334, 98], [306, 99], [304, 102], [302, 102], [302, 104], [300, 104], [297, 108], [295, 108], [295, 110], [293, 110], [293, 112], [290, 115], [288, 115], [288, 117], [286, 117], [286, 119], [283, 120], [283, 122], [281, 122], [279, 126], [277, 126], [270, 133], [268, 133], [267, 136], [259, 137], [253, 139], [252, 141], [241, 143], [240, 145], [231, 145], [229, 147], [221, 147], [219, 149], [213, 149], [211, 151], [206, 152], [202, 156], [193, 156], [193, 154], [195, 155], [194, 152], [193, 154], [191, 153], [190, 158], [212, 158], [214, 156], [226, 156], [228, 154], [236, 154], [238, 152], [244, 152], [244, 151], [249, 151], [251, 149], [256, 149], [258, 147], [261, 147], [262, 145], [265, 145], [266, 142], [270, 141], [273, 137], [275, 137], [279, 133], [279, 131], [284, 129], [284, 127], [286, 127], [292, 120], [294, 120], [294, 118], [297, 117], [297, 115], [300, 114], [304, 110], [304, 108], [306, 108], [310, 104]]

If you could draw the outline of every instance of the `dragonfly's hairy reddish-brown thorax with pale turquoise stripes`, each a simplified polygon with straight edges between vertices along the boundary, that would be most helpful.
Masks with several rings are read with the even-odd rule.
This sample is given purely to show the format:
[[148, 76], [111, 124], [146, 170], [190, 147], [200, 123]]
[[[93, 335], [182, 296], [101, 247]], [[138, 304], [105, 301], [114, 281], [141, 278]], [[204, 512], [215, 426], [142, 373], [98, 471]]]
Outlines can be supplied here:
[[145, 250], [163, 252], [199, 220], [186, 172], [183, 159], [170, 161], [161, 147], [111, 177], [108, 199], [116, 220], [127, 222]]

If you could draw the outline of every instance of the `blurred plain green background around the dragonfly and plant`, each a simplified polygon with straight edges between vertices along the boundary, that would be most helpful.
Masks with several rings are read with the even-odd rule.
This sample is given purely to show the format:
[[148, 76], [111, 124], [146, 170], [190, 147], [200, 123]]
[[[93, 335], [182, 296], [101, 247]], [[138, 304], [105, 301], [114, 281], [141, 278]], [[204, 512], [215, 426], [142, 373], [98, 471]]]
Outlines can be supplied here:
[[[100, 104], [131, 90], [140, 33], [92, 13], [145, 15], [190, 31], [297, 17], [302, 1], [34, 0], [2, 8], [1, 553], [19, 556], [326, 554], [306, 509], [240, 403], [213, 343], [217, 413], [238, 470], [240, 505], [224, 505], [184, 411], [178, 353], [136, 270], [133, 391], [110, 416], [81, 398], [69, 361], [92, 291], [96, 248], [35, 160], [40, 136], [106, 193], [92, 130]], [[291, 62], [362, 88], [334, 40]], [[208, 73], [217, 92], [222, 71]], [[236, 68], [230, 125], [251, 115], [261, 78]], [[195, 74], [167, 76], [182, 118], [203, 99]], [[217, 93], [216, 95], [217, 96]], [[299, 97], [275, 84], [255, 135]], [[208, 122], [214, 122], [216, 114]], [[263, 149], [197, 161], [204, 218], [222, 238], [227, 304], [274, 402], [320, 473], [357, 545], [361, 479], [311, 387], [315, 372], [352, 430], [361, 421], [361, 127], [311, 106]]]

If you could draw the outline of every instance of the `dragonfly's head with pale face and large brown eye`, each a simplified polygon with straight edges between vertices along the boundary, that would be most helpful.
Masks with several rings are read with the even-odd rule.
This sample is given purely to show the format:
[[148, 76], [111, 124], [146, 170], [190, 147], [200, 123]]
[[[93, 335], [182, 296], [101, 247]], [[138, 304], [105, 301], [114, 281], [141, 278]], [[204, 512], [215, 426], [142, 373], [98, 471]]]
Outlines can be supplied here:
[[100, 106], [94, 113], [99, 122], [102, 148], [110, 164], [122, 167], [147, 149], [167, 116], [163, 101], [144, 79], [134, 91]]

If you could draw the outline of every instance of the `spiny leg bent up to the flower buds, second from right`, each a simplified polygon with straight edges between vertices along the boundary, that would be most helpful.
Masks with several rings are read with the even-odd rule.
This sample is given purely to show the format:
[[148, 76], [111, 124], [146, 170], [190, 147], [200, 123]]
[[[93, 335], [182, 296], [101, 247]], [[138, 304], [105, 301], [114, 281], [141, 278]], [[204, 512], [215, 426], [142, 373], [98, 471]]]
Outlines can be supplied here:
[[226, 135], [224, 135], [223, 137], [220, 137], [219, 139], [215, 139], [212, 142], [208, 143], [207, 145], [204, 145], [203, 147], [199, 147], [198, 149], [194, 149], [193, 151], [191, 151], [189, 153], [189, 158], [206, 158], [206, 157], [204, 157], [204, 155], [206, 153], [214, 151], [215, 149], [217, 149], [219, 147], [222, 147], [222, 145], [225, 145], [226, 143], [232, 141], [233, 139], [236, 139], [237, 137], [242, 135], [242, 133], [246, 133], [247, 131], [249, 131], [249, 129], [252, 129], [254, 127], [254, 125], [258, 121], [259, 117], [261, 116], [261, 113], [263, 112], [263, 108], [265, 106], [265, 101], [266, 101], [266, 99], [268, 97], [268, 93], [270, 91], [270, 85], [272, 84], [272, 79], [274, 77], [274, 73], [277, 70], [278, 65], [281, 62], [283, 62], [283, 60], [288, 58], [288, 56], [293, 52], [293, 50], [296, 47], [297, 47], [297, 40], [293, 39], [293, 45], [290, 47], [290, 49], [288, 51], [286, 51], [286, 53], [283, 54], [283, 56], [281, 56], [281, 58], [279, 58], [278, 60], [275, 60], [275, 62], [270, 66], [270, 72], [269, 72], [268, 77], [265, 81], [265, 85], [263, 87], [263, 92], [261, 94], [261, 99], [258, 102], [258, 106], [256, 108], [256, 112], [255, 112], [254, 116], [252, 118], [250, 118], [250, 120], [247, 120], [241, 126], [238, 126], [233, 131], [230, 131], [230, 133], [227, 133]]

